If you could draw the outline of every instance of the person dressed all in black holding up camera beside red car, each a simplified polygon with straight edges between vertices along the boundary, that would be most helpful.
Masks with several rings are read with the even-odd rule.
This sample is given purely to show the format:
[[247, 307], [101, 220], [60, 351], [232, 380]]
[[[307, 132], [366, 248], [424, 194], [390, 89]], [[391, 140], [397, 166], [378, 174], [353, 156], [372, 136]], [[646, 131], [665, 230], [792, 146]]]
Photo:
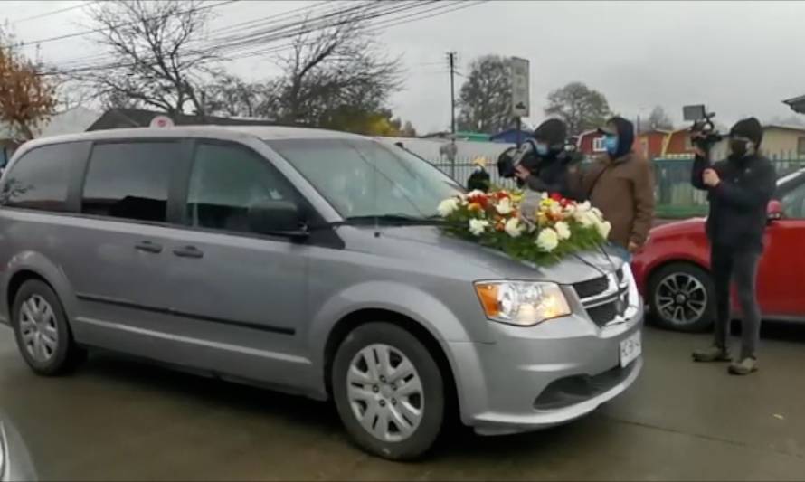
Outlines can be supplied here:
[[732, 279], [743, 310], [741, 354], [729, 368], [734, 374], [748, 374], [757, 369], [761, 313], [755, 279], [763, 251], [767, 204], [777, 179], [772, 163], [758, 152], [761, 141], [760, 122], [756, 118], [740, 120], [730, 129], [731, 153], [727, 159], [710, 165], [706, 154], [696, 149], [691, 173], [691, 183], [706, 190], [710, 202], [706, 231], [711, 245], [716, 307], [715, 342], [693, 356], [698, 362], [730, 360], [727, 336]]

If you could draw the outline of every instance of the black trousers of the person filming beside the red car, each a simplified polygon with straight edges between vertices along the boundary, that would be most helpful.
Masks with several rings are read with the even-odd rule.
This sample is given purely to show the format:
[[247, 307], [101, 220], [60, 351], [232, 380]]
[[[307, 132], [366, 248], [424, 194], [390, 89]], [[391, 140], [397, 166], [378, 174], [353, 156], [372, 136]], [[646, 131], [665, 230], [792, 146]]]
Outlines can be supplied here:
[[743, 311], [741, 360], [754, 357], [761, 337], [761, 310], [757, 303], [757, 266], [761, 253], [713, 246], [710, 264], [715, 282], [715, 345], [726, 348], [730, 328], [730, 282], [735, 284]]

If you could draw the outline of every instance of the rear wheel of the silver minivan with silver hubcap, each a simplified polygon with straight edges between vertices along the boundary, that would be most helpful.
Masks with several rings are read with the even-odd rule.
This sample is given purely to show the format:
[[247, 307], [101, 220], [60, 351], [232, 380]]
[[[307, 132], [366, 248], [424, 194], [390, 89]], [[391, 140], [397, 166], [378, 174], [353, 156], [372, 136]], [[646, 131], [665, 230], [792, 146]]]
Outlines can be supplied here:
[[86, 356], [72, 339], [59, 297], [39, 279], [25, 281], [17, 291], [12, 325], [17, 348], [34, 373], [66, 373]]

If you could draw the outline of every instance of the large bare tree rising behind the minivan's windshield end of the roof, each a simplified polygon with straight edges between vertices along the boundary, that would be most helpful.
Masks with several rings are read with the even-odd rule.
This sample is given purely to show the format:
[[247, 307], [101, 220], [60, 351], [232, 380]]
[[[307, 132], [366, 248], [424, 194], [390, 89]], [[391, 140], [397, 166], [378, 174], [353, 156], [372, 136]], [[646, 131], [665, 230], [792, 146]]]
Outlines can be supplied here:
[[327, 25], [300, 27], [291, 52], [277, 59], [282, 74], [266, 100], [267, 108], [276, 109], [271, 117], [328, 125], [343, 106], [379, 111], [402, 87], [400, 60], [379, 52], [357, 15], [352, 11]]

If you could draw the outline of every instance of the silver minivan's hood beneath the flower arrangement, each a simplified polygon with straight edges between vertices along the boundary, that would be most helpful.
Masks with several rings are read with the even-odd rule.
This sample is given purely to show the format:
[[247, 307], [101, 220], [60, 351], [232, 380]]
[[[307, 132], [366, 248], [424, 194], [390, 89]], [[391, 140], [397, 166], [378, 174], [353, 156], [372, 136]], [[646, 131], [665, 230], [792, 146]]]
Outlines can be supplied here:
[[[477, 279], [534, 279], [573, 284], [619, 269], [622, 260], [606, 251], [587, 251], [547, 267], [513, 260], [506, 254], [460, 240], [436, 226], [362, 227], [350, 231], [349, 249], [421, 263], [423, 269], [463, 273]], [[373, 241], [374, 240], [374, 241]], [[381, 241], [381, 242], [377, 242]]]

